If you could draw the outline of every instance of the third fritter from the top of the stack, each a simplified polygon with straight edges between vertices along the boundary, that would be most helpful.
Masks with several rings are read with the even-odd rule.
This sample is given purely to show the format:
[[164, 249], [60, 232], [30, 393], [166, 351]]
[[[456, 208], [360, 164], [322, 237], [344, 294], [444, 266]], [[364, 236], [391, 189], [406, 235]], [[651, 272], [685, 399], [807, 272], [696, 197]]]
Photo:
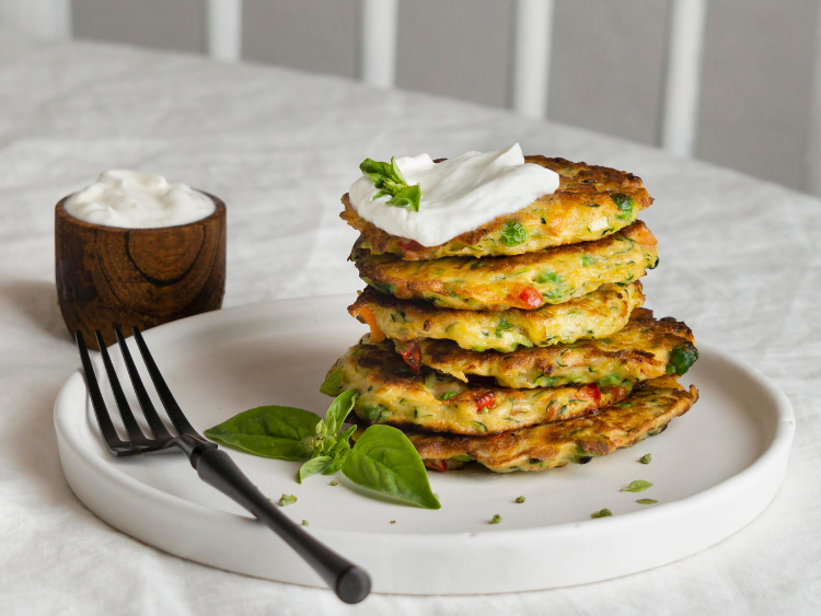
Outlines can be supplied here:
[[564, 304], [499, 312], [436, 309], [428, 302], [397, 300], [366, 287], [348, 312], [370, 326], [372, 341], [385, 336], [405, 342], [435, 338], [453, 340], [463, 349], [510, 352], [517, 347], [605, 338], [624, 327], [631, 312], [644, 301], [638, 280], [626, 287], [603, 284]]

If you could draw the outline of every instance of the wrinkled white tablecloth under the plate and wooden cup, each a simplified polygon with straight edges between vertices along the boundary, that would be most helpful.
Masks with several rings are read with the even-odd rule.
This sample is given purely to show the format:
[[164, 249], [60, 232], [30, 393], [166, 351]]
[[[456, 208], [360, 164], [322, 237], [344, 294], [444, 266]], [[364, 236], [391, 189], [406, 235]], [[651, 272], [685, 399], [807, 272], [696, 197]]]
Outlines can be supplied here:
[[[363, 158], [514, 141], [640, 175], [657, 199], [644, 219], [661, 254], [648, 305], [786, 392], [798, 423], [787, 477], [750, 526], [683, 561], [597, 584], [372, 595], [350, 608], [328, 591], [163, 554], [73, 497], [51, 420], [79, 365], [54, 284], [61, 196], [106, 168], [163, 174], [229, 205], [227, 306], [354, 297], [360, 283], [345, 259], [355, 232], [337, 213]], [[269, 67], [0, 37], [0, 613], [819, 614], [820, 217], [821, 202], [778, 186], [501, 111]]]

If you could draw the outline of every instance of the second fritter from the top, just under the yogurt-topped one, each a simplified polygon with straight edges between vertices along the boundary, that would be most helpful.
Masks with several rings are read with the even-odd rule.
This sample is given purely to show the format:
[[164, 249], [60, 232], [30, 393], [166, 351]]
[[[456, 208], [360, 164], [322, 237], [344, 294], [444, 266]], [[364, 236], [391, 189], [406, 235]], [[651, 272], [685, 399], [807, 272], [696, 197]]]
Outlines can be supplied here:
[[354, 246], [359, 277], [401, 300], [424, 299], [440, 307], [501, 311], [560, 304], [602, 284], [627, 284], [658, 265], [656, 239], [644, 222], [595, 242], [546, 248], [514, 257], [448, 257], [408, 261]]

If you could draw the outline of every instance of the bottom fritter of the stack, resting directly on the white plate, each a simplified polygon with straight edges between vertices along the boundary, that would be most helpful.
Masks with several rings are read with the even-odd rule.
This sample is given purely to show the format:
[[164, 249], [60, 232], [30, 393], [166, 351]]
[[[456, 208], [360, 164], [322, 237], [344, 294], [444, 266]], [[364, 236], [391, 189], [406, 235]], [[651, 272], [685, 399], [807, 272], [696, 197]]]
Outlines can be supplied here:
[[[493, 437], [459, 437], [406, 432], [425, 463], [435, 470], [452, 470], [478, 462], [495, 473], [542, 470], [568, 463], [587, 464], [593, 457], [629, 448], [667, 429], [698, 399], [673, 376], [646, 382], [626, 400], [595, 415], [523, 428]], [[354, 433], [357, 439], [367, 423]]]

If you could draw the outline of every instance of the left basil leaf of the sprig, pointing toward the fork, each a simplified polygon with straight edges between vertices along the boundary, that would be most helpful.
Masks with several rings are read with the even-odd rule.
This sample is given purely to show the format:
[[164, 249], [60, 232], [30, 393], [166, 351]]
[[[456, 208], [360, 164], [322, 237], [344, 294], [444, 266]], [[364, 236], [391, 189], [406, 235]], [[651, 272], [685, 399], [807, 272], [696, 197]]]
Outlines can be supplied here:
[[[220, 444], [263, 457], [308, 460], [320, 417], [289, 406], [259, 406], [205, 431]], [[308, 439], [305, 442], [304, 440]]]

